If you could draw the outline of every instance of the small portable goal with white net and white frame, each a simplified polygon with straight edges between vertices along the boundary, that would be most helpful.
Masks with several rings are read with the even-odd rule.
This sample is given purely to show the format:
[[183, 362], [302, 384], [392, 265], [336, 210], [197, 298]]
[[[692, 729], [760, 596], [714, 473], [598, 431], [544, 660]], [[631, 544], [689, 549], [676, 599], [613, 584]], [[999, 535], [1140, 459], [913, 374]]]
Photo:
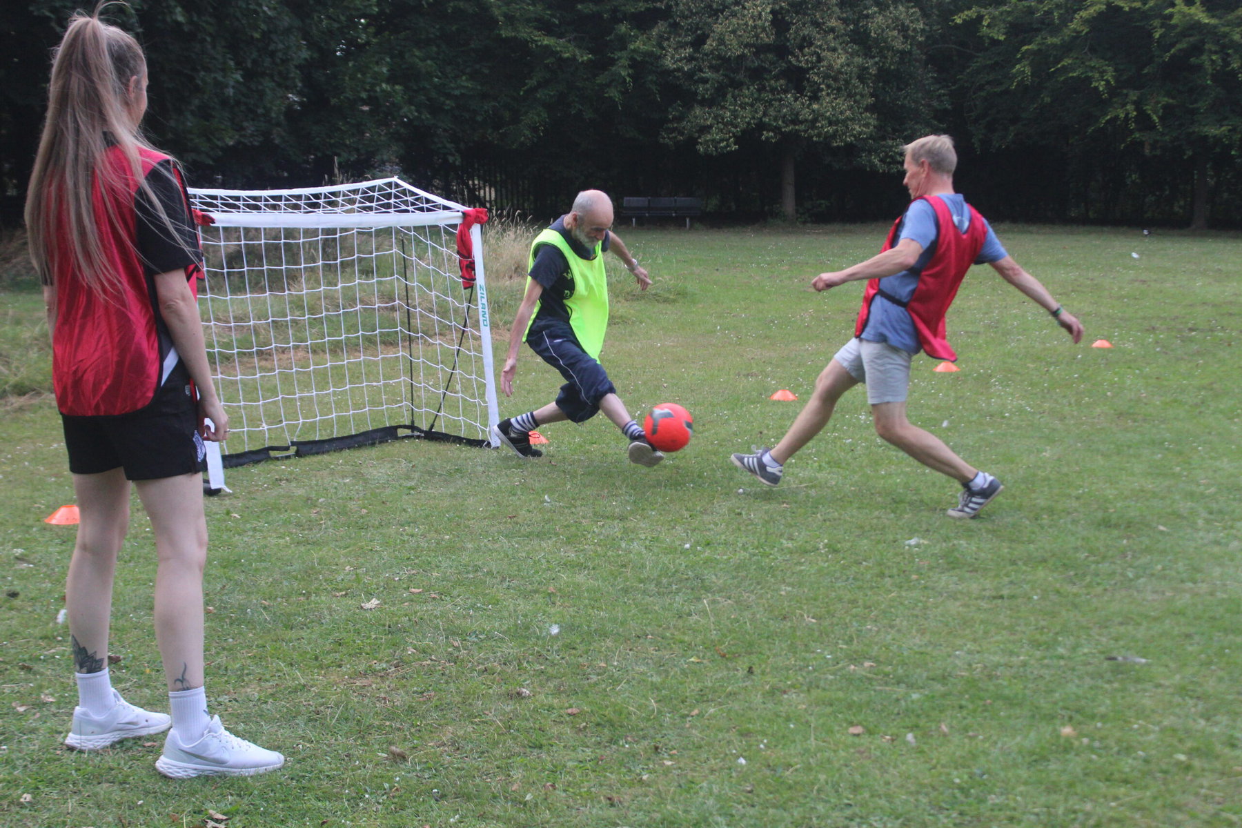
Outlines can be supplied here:
[[467, 207], [399, 179], [190, 199], [214, 221], [199, 307], [229, 412], [225, 467], [401, 437], [488, 441], [478, 226], [473, 282], [457, 241]]

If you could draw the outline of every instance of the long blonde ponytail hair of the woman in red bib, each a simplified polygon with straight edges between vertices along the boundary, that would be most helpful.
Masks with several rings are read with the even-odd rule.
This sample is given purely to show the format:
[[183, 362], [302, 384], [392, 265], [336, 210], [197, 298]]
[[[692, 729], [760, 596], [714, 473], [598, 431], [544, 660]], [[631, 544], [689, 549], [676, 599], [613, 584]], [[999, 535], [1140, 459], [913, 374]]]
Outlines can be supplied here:
[[114, 292], [118, 274], [101, 243], [92, 196], [96, 189], [106, 196], [107, 220], [116, 223], [118, 200], [107, 196], [130, 186], [120, 165], [104, 163], [109, 146], [122, 153], [129, 180], [149, 192], [139, 156], [149, 144], [133, 113], [134, 78], [140, 88], [147, 58], [129, 34], [99, 19], [107, 5], [75, 14], [53, 52], [47, 117], [26, 196], [30, 257], [43, 282], [72, 269], [101, 294]]

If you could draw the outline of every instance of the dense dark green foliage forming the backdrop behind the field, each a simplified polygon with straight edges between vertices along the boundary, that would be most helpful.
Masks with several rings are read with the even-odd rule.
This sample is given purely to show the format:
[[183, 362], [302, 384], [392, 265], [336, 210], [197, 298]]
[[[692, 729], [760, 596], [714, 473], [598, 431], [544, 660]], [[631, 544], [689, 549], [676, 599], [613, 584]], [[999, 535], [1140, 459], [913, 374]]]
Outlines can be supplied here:
[[[12, 222], [71, 0], [0, 7]], [[996, 217], [1242, 225], [1233, 0], [130, 0], [156, 144], [194, 181], [391, 173], [543, 215], [579, 186], [872, 218], [959, 139]]]

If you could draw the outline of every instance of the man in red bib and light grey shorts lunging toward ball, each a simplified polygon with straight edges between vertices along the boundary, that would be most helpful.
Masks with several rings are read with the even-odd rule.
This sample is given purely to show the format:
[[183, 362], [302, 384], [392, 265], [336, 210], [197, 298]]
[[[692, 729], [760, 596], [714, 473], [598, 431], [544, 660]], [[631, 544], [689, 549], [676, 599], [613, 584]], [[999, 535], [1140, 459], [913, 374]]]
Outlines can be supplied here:
[[854, 339], [820, 374], [811, 400], [785, 437], [771, 451], [734, 454], [735, 466], [776, 485], [785, 462], [828, 423], [841, 395], [864, 382], [876, 433], [961, 483], [958, 505], [948, 511], [950, 518], [974, 518], [1005, 488], [907, 420], [910, 360], [920, 350], [940, 360], [958, 359], [945, 338], [944, 317], [971, 264], [991, 264], [1002, 279], [1052, 314], [1074, 343], [1082, 340], [1083, 326], [1009, 256], [987, 221], [954, 192], [956, 165], [958, 154], [948, 135], [928, 135], [905, 146], [904, 184], [912, 201], [894, 222], [883, 251], [811, 281], [816, 290], [827, 290], [868, 279]]

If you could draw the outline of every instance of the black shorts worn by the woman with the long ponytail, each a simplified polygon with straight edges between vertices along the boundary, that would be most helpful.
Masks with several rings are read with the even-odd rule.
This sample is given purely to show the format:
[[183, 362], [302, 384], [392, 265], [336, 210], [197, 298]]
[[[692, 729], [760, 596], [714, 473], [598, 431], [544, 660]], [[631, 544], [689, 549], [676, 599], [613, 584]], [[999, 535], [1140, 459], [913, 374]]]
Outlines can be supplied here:
[[183, 364], [144, 408], [106, 417], [61, 415], [61, 421], [73, 474], [99, 474], [119, 466], [128, 480], [156, 480], [206, 468], [199, 406], [190, 396], [190, 375]]

